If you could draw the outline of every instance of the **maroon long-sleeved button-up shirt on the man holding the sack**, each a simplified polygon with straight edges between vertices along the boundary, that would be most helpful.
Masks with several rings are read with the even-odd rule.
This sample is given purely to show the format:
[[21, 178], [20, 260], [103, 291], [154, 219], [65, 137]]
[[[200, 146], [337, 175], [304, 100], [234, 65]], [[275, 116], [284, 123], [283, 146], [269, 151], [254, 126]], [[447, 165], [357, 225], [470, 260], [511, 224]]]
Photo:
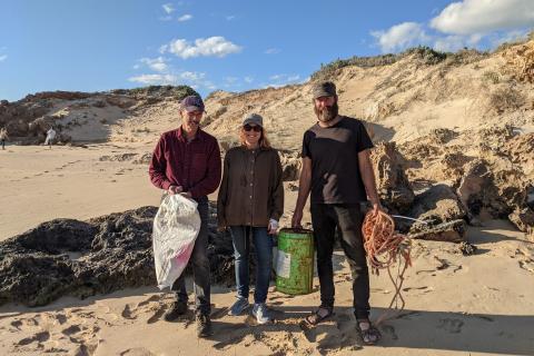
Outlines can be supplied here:
[[217, 139], [198, 130], [187, 141], [181, 127], [165, 132], [154, 150], [150, 181], [158, 188], [181, 186], [194, 198], [214, 192], [220, 182], [220, 150]]

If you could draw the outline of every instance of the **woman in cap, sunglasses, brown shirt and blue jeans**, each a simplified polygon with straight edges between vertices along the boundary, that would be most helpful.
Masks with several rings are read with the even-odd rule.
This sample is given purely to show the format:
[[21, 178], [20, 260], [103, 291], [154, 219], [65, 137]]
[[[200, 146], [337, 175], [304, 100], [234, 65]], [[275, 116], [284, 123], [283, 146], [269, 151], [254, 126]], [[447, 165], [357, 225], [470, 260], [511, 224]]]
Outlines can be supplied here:
[[270, 147], [263, 118], [247, 115], [240, 128], [241, 145], [225, 156], [217, 202], [218, 225], [228, 227], [234, 241], [237, 300], [229, 315], [248, 307], [250, 237], [256, 249], [256, 289], [253, 314], [258, 324], [271, 320], [265, 305], [273, 259], [273, 234], [284, 212], [284, 186], [278, 152]]

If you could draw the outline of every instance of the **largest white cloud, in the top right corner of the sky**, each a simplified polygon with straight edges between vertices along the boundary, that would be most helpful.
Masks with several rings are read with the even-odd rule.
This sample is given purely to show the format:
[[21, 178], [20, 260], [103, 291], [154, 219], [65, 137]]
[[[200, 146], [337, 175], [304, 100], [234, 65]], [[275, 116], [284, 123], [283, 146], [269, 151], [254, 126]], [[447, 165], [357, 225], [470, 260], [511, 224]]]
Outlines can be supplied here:
[[447, 6], [431, 20], [431, 27], [445, 33], [487, 33], [534, 24], [532, 0], [463, 0]]

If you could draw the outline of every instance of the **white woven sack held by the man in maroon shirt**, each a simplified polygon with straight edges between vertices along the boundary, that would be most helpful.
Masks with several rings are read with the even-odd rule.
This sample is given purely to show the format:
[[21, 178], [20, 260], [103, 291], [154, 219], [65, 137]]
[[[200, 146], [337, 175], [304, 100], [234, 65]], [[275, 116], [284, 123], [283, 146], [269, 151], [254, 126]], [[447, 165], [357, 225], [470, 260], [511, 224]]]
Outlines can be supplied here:
[[168, 195], [154, 219], [152, 244], [159, 289], [171, 287], [187, 266], [200, 230], [197, 202]]

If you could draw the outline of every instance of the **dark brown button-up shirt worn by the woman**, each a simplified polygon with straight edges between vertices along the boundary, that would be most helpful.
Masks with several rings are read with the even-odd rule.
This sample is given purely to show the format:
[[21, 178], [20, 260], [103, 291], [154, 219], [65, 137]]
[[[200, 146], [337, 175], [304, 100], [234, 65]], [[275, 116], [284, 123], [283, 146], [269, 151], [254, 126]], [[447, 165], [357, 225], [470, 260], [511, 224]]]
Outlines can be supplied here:
[[219, 227], [267, 227], [284, 212], [284, 185], [278, 152], [273, 148], [231, 148], [225, 156], [217, 199]]

